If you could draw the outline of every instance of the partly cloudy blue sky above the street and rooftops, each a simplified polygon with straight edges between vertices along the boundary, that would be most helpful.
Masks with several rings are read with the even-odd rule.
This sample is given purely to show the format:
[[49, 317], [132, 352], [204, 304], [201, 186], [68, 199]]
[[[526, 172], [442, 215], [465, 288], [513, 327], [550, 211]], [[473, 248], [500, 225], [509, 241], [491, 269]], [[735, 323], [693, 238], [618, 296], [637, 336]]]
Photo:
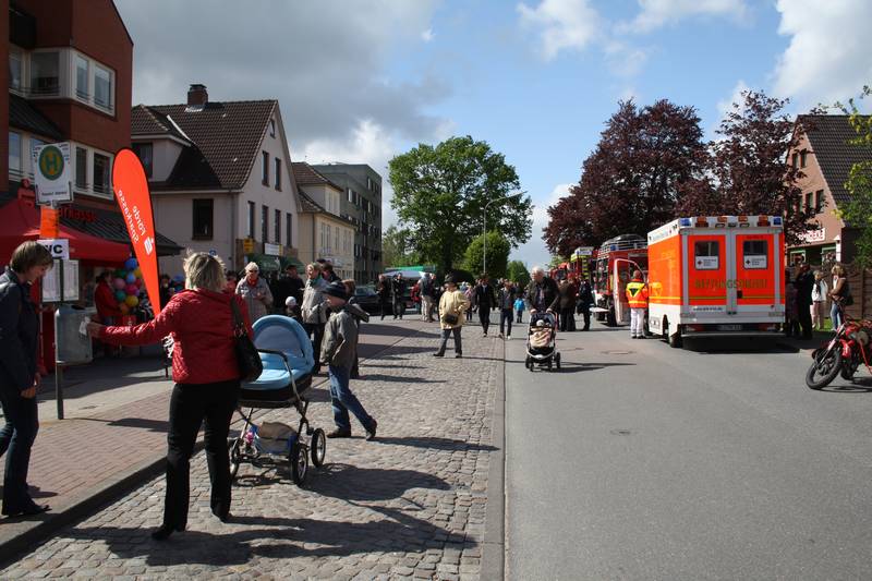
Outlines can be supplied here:
[[116, 0], [133, 102], [277, 98], [291, 158], [368, 164], [486, 141], [533, 198], [512, 259], [549, 259], [546, 209], [578, 183], [618, 102], [697, 108], [706, 136], [744, 89], [789, 112], [872, 84], [869, 0]]

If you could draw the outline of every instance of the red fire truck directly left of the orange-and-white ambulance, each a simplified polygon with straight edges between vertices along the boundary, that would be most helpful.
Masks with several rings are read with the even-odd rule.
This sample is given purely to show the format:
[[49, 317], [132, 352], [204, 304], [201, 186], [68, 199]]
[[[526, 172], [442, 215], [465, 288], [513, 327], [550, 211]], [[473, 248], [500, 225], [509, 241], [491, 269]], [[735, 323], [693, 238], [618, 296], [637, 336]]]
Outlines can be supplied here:
[[638, 234], [621, 234], [603, 242], [596, 251], [591, 313], [609, 327], [630, 324], [627, 283], [633, 270], [647, 273], [647, 242]]

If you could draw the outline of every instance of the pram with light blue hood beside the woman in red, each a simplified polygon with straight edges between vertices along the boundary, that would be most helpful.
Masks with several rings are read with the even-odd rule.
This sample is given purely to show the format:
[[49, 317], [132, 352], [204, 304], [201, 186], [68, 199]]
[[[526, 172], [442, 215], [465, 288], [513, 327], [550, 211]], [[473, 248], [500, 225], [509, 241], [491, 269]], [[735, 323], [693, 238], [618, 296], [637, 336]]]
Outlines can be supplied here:
[[[282, 315], [259, 318], [253, 328], [264, 373], [255, 382], [243, 384], [240, 391], [237, 411], [245, 420], [245, 426], [239, 436], [228, 441], [230, 476], [237, 477], [243, 462], [264, 468], [287, 460], [291, 480], [301, 486], [308, 471], [310, 453], [315, 467], [324, 463], [327, 453], [324, 431], [313, 428], [306, 419], [308, 399], [305, 392], [312, 387], [315, 366], [312, 343], [299, 323]], [[300, 413], [296, 429], [270, 422], [258, 426], [252, 421], [256, 410], [279, 408], [296, 409]]]

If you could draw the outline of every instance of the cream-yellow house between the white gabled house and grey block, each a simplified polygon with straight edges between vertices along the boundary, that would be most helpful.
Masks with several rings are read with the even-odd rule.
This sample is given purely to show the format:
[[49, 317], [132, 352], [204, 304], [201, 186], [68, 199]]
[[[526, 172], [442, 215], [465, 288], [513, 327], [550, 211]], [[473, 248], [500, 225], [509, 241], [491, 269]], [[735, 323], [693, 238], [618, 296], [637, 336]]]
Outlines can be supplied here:
[[305, 161], [293, 164], [300, 193], [300, 257], [330, 261], [341, 278], [355, 278], [354, 222], [341, 214], [344, 190]]

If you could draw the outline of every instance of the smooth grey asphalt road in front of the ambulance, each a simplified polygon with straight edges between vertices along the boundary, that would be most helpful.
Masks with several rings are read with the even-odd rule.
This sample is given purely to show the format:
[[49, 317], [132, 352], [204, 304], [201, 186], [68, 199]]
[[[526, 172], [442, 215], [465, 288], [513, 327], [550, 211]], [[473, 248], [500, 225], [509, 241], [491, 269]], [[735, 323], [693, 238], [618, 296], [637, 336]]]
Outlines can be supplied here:
[[[872, 579], [872, 378], [594, 324], [564, 370], [506, 349], [507, 577]], [[693, 348], [694, 346], [690, 346]]]

